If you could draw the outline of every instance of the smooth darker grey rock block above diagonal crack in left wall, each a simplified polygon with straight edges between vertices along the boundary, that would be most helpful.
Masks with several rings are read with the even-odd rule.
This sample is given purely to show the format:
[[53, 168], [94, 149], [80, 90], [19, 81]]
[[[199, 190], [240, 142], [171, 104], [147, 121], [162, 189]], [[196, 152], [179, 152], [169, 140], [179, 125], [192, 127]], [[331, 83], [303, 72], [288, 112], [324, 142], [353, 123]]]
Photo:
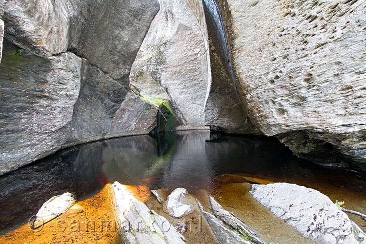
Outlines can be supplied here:
[[158, 0], [87, 0], [72, 16], [69, 49], [99, 67], [122, 85], [129, 74]]

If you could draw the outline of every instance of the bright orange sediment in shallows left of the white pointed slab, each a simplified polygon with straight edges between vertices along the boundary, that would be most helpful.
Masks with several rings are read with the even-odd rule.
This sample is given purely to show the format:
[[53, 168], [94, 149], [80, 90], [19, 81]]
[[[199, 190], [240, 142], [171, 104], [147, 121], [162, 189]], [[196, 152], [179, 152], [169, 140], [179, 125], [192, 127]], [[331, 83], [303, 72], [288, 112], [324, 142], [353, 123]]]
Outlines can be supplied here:
[[114, 229], [116, 225], [112, 226], [115, 219], [110, 196], [110, 184], [107, 184], [98, 194], [76, 203], [60, 217], [44, 224], [39, 232], [24, 224], [0, 236], [0, 243], [118, 243], [119, 233]]

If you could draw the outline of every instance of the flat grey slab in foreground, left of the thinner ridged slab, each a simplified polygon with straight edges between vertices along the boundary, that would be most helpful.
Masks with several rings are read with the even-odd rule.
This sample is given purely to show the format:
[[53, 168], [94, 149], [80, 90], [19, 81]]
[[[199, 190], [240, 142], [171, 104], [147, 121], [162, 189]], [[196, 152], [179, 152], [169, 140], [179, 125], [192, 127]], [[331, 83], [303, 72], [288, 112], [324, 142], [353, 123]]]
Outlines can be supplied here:
[[250, 241], [244, 240], [236, 232], [230, 230], [224, 222], [217, 219], [214, 215], [204, 211], [201, 203], [198, 203], [198, 206], [219, 244], [252, 244]]

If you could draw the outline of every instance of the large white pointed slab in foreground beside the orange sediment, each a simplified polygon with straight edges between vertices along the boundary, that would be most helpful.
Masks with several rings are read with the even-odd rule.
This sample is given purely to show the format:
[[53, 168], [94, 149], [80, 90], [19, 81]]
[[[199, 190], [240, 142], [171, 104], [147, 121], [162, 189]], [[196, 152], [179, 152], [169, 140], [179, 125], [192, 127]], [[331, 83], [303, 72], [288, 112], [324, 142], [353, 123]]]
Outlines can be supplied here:
[[122, 239], [125, 243], [185, 243], [183, 235], [168, 220], [131, 196], [122, 184], [115, 182], [112, 188]]

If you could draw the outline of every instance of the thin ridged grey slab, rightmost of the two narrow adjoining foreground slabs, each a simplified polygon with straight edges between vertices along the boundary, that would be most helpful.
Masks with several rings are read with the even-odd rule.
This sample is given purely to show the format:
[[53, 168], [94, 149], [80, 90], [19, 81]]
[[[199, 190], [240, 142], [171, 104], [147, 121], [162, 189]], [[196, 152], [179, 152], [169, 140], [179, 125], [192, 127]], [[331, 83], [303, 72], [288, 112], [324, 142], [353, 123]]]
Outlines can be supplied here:
[[223, 221], [226, 225], [237, 230], [242, 236], [250, 240], [254, 244], [266, 244], [260, 240], [258, 234], [246, 226], [241, 219], [236, 217], [233, 213], [226, 211], [219, 203], [211, 196], [208, 197], [213, 214]]

